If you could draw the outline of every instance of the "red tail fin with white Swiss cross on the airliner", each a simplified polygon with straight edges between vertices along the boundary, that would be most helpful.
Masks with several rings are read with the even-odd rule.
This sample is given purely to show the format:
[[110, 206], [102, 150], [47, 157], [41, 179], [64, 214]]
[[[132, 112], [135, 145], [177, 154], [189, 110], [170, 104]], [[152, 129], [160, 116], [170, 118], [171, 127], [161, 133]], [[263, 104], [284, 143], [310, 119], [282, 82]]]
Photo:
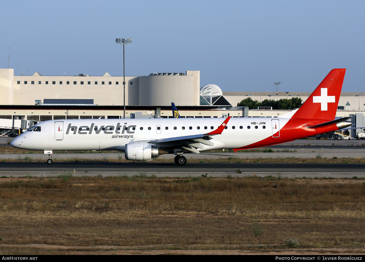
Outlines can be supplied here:
[[345, 71], [332, 69], [292, 118], [334, 119]]

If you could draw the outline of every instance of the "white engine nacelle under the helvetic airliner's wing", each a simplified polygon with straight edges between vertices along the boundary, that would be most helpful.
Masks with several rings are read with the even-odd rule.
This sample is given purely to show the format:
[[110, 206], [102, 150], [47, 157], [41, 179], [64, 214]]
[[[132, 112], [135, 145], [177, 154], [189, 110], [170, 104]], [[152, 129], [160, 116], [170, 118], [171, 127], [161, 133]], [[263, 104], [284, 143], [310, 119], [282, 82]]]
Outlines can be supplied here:
[[124, 156], [128, 160], [151, 160], [166, 153], [168, 152], [147, 143], [128, 143], [124, 150]]

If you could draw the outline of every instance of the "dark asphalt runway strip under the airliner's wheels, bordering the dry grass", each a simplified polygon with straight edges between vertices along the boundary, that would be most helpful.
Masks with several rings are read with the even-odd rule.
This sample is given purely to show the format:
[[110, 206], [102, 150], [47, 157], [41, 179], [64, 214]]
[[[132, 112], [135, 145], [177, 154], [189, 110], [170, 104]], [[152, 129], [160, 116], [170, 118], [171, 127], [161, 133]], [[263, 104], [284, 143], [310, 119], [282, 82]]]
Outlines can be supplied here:
[[[236, 170], [240, 169], [242, 173]], [[73, 176], [157, 176], [213, 177], [281, 176], [281, 177], [365, 177], [365, 164], [311, 164], [311, 163], [0, 163], [0, 177], [64, 174]]]

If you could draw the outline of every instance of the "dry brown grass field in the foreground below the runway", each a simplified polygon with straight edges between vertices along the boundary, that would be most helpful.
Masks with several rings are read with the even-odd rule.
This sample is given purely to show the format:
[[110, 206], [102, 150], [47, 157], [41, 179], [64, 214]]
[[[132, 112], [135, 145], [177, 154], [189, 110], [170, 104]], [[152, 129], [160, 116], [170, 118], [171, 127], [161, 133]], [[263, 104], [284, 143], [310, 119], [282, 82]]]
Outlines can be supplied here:
[[364, 254], [350, 179], [0, 179], [0, 254]]

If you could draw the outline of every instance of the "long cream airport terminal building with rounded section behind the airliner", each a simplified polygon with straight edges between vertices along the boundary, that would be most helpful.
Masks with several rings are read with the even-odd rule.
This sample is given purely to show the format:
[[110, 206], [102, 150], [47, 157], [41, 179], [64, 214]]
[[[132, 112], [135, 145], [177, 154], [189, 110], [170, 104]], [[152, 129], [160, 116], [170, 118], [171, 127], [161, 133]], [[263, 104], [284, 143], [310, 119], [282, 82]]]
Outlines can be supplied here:
[[[258, 101], [300, 97], [305, 101], [311, 94], [222, 92], [216, 85], [201, 85], [200, 71], [194, 70], [126, 76], [125, 80], [126, 118], [172, 117], [171, 102], [184, 117], [280, 116], [288, 111], [248, 110], [237, 103], [247, 97]], [[43, 76], [38, 72], [15, 76], [14, 69], [0, 68], [0, 119], [123, 118], [123, 98], [123, 76]], [[365, 92], [341, 93], [337, 116], [356, 115], [362, 126], [364, 110]]]

